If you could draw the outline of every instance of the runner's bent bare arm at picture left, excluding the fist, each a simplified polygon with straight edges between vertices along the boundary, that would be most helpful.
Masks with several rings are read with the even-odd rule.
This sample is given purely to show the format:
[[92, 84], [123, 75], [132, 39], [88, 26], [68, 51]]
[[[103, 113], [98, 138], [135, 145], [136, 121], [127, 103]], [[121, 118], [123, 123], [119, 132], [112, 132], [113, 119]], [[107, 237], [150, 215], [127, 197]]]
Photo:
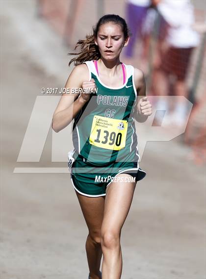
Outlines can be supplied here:
[[[70, 76], [67, 79], [65, 88], [80, 88], [82, 82], [89, 80], [89, 72], [85, 64], [76, 66]], [[87, 102], [81, 96], [78, 98], [77, 94], [63, 94], [61, 99], [53, 113], [52, 129], [55, 132], [59, 132], [63, 128], [67, 127], [77, 115], [79, 110]]]

